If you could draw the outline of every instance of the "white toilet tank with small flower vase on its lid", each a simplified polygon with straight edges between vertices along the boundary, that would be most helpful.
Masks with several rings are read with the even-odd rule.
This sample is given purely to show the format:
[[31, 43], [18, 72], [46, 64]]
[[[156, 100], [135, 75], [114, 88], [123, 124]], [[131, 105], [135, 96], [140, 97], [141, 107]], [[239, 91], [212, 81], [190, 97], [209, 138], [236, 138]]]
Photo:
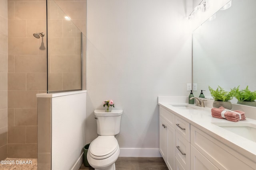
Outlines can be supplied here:
[[112, 109], [111, 112], [105, 112], [105, 110], [101, 109], [94, 110], [98, 135], [117, 135], [120, 132], [122, 114], [122, 109]]

